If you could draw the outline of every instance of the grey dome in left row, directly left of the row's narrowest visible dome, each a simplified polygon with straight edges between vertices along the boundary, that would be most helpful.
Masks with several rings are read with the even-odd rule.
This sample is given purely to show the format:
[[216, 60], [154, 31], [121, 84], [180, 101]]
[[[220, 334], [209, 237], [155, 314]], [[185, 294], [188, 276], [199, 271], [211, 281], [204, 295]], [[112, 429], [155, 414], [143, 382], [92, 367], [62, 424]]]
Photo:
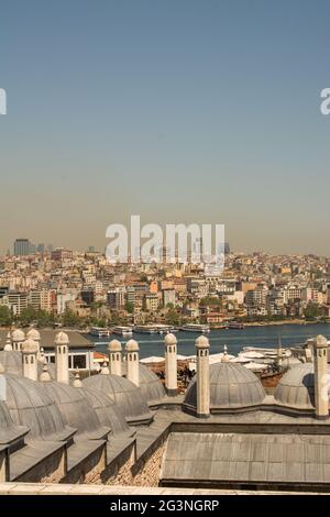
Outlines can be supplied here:
[[101, 438], [110, 432], [109, 427], [100, 424], [95, 409], [79, 388], [56, 381], [40, 383], [40, 385], [56, 404], [65, 422], [76, 428], [78, 435]]

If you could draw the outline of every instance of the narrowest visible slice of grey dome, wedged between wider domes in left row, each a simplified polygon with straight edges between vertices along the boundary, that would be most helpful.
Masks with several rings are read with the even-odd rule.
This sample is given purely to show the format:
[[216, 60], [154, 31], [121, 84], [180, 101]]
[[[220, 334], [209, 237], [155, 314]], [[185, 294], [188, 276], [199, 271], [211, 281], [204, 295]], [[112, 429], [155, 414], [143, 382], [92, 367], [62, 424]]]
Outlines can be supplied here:
[[124, 415], [110, 397], [87, 387], [76, 389], [79, 389], [81, 395], [89, 402], [101, 425], [111, 428], [112, 435], [119, 435], [130, 429]]

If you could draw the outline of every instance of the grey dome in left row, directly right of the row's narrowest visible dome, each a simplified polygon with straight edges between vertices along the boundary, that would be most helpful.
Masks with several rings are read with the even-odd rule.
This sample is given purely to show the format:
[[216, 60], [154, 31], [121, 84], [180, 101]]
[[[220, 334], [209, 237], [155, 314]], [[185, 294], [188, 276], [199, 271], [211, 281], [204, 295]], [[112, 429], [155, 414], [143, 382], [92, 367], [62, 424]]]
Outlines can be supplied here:
[[119, 375], [91, 375], [82, 381], [84, 387], [102, 392], [110, 397], [129, 422], [150, 420], [145, 396], [140, 387]]

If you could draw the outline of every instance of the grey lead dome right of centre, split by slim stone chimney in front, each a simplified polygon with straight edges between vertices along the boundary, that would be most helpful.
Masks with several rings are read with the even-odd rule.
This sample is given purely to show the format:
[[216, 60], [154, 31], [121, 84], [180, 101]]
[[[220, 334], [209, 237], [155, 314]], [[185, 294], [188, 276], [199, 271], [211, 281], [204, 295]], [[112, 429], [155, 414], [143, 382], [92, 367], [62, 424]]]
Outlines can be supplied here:
[[[196, 376], [190, 382], [186, 406], [197, 407]], [[211, 410], [258, 406], [265, 398], [264, 388], [253, 372], [239, 363], [216, 363], [210, 366]]]

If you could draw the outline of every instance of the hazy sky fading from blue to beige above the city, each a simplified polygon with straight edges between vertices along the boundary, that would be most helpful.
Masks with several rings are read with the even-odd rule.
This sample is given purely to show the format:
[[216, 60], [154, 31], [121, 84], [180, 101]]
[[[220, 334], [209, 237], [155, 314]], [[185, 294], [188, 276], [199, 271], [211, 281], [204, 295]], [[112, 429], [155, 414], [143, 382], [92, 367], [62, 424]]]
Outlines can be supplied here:
[[0, 251], [218, 222], [330, 255], [328, 0], [0, 2]]

